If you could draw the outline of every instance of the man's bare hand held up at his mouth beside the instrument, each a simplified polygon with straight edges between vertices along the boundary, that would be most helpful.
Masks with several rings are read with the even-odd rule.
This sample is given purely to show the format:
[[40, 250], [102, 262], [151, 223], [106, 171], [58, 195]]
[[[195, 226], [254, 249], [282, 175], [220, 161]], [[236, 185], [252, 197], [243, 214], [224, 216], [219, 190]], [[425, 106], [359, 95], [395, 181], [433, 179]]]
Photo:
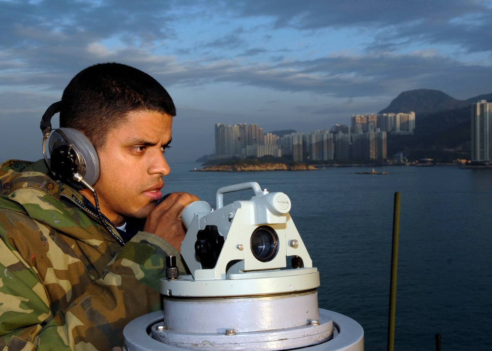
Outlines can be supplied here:
[[186, 234], [181, 213], [184, 207], [198, 200], [200, 199], [188, 193], [169, 194], [149, 214], [144, 231], [160, 236], [180, 251], [181, 242]]

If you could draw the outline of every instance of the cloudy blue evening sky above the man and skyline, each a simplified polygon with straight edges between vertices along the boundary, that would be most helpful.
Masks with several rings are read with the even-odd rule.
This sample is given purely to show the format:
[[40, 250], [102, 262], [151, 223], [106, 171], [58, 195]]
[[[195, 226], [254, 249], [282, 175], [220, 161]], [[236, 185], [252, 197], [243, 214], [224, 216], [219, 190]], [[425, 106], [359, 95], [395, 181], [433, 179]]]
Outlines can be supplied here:
[[309, 132], [407, 90], [492, 92], [492, 0], [0, 0], [0, 29], [2, 161], [43, 157], [41, 116], [99, 62], [170, 93], [171, 163], [213, 153], [215, 123]]

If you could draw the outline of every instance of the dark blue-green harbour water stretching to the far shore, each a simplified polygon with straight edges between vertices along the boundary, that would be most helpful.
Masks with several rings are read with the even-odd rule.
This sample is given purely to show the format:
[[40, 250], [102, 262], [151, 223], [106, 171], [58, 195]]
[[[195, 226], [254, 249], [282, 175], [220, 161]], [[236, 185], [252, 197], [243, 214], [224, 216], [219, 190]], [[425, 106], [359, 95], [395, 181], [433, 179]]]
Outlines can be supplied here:
[[[165, 191], [215, 207], [225, 185], [256, 181], [292, 201], [291, 215], [321, 275], [319, 306], [365, 330], [386, 350], [393, 203], [401, 194], [395, 350], [492, 350], [492, 170], [382, 167], [307, 172], [188, 172], [175, 164]], [[225, 195], [224, 204], [252, 191]]]

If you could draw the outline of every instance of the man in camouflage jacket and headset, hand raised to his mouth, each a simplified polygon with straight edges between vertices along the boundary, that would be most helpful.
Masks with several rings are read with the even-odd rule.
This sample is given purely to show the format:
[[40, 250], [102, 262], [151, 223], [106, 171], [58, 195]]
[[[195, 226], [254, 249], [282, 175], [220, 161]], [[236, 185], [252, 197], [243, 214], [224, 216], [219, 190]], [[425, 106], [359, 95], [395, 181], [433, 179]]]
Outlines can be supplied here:
[[[2, 350], [121, 346], [126, 323], [160, 308], [163, 262], [180, 258], [181, 212], [198, 200], [174, 193], [156, 205], [176, 110], [146, 73], [118, 63], [91, 66], [57, 106], [60, 126], [93, 145], [99, 176], [93, 184], [77, 170], [65, 176], [54, 154], [1, 165]], [[178, 267], [185, 270], [180, 259]]]

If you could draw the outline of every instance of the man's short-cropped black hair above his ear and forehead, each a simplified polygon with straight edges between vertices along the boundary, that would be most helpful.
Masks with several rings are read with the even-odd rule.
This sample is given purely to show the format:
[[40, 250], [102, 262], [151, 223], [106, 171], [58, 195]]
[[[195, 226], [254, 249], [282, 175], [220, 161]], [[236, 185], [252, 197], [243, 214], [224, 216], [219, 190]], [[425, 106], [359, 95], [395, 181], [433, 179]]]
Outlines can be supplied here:
[[83, 132], [94, 147], [134, 111], [176, 116], [171, 96], [154, 78], [121, 63], [99, 63], [80, 71], [63, 90], [60, 127]]

